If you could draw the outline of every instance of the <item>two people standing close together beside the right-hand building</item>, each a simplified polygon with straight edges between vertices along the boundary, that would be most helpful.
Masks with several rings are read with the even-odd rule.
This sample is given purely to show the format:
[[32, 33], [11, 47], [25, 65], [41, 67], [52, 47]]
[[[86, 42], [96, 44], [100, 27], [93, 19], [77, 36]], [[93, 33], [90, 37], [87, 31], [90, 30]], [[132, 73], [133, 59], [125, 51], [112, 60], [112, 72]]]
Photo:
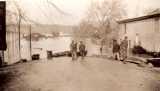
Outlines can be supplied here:
[[115, 60], [120, 60], [125, 62], [127, 58], [127, 51], [128, 51], [128, 37], [125, 36], [123, 40], [118, 43], [117, 40], [113, 40], [113, 57]]

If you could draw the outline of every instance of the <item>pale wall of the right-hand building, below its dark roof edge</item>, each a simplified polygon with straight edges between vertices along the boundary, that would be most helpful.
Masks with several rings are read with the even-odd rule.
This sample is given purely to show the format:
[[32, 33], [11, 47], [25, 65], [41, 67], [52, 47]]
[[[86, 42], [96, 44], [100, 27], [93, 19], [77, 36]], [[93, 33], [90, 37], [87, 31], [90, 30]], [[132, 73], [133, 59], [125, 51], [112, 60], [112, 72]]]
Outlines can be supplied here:
[[[128, 36], [130, 48], [135, 45], [136, 34], [139, 35], [141, 46], [149, 51], [160, 49], [160, 19], [151, 18], [141, 21], [120, 24], [119, 36]], [[126, 32], [125, 32], [126, 30]]]

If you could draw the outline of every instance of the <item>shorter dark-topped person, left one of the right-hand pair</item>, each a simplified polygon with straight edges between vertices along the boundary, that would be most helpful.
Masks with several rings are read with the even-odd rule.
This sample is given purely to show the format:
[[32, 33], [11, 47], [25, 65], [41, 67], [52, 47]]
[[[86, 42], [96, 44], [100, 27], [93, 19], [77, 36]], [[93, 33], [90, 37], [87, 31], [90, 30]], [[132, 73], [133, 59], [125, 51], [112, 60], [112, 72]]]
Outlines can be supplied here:
[[120, 51], [120, 45], [118, 44], [117, 40], [113, 40], [113, 57], [115, 60], [119, 60], [119, 51]]

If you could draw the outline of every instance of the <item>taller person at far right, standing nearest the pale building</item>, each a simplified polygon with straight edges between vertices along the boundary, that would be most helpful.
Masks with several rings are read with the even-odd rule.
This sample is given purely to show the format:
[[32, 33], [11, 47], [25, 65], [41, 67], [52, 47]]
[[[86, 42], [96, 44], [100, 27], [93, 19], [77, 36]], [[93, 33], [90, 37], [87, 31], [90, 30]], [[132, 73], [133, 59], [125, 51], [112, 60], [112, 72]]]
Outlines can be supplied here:
[[128, 51], [128, 37], [125, 36], [124, 40], [120, 44], [120, 60], [125, 63], [127, 59], [127, 51]]

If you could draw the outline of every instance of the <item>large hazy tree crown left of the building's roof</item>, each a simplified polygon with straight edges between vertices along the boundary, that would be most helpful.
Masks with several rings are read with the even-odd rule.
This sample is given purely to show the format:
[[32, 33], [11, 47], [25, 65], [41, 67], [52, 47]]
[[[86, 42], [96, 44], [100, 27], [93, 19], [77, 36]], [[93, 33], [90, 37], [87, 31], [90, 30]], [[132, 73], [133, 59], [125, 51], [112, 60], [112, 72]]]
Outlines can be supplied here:
[[104, 40], [111, 33], [117, 32], [117, 20], [125, 14], [124, 6], [120, 0], [92, 2], [87, 16], [79, 25], [79, 34], [87, 33], [92, 37]]

